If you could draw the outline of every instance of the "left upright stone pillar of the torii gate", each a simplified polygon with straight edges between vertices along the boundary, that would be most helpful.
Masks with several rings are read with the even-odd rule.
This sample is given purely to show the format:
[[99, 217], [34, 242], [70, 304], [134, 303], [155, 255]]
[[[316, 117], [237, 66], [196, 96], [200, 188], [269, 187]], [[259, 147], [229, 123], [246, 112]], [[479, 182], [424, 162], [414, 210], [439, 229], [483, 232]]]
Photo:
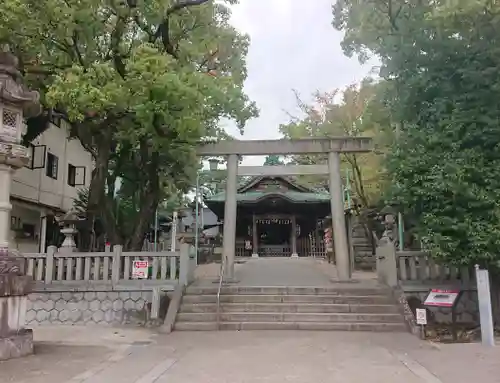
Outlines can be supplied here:
[[238, 156], [236, 154], [230, 154], [227, 158], [226, 203], [224, 206], [224, 232], [222, 236], [222, 256], [226, 261], [224, 279], [226, 281], [234, 280], [237, 181]]

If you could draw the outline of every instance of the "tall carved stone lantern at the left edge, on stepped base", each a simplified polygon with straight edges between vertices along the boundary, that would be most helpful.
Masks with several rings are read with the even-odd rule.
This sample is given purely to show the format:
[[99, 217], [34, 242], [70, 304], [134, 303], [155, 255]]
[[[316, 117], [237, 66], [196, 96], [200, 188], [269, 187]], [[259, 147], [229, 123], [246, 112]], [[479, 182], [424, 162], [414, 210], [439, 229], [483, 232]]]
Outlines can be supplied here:
[[24, 327], [32, 277], [21, 254], [9, 249], [10, 186], [29, 161], [20, 145], [24, 118], [39, 114], [40, 105], [39, 94], [23, 86], [17, 63], [8, 47], [0, 49], [0, 360], [33, 353], [33, 333]]

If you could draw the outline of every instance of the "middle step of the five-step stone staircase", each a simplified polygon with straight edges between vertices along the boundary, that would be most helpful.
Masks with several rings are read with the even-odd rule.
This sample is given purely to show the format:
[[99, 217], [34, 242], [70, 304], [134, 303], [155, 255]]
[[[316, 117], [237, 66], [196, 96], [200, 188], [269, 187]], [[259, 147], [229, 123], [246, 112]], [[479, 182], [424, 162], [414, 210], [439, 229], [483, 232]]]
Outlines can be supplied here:
[[[327, 303], [223, 303], [221, 312], [279, 312], [279, 313], [359, 313], [396, 314], [398, 308], [390, 304], [327, 304]], [[182, 313], [216, 312], [215, 303], [183, 303]]]

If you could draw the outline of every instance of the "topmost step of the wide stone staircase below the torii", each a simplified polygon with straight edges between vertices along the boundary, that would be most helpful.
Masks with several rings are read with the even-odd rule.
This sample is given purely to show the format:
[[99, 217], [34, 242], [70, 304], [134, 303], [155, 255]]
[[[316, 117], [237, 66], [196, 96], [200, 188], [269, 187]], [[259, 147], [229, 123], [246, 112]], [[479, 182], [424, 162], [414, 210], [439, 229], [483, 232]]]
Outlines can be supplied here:
[[[189, 295], [216, 295], [218, 286], [190, 286], [186, 290]], [[352, 287], [352, 286], [329, 286], [329, 287], [245, 287], [245, 286], [223, 286], [221, 295], [329, 295], [329, 296], [368, 296], [386, 295], [389, 290], [384, 287]]]

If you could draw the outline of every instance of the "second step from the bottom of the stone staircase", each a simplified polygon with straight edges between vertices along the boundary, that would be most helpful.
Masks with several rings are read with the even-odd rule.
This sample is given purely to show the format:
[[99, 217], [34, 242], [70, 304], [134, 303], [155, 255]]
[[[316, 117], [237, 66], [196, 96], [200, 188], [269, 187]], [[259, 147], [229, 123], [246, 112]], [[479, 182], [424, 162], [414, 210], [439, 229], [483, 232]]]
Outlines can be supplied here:
[[[184, 313], [177, 315], [178, 322], [215, 322], [216, 313]], [[222, 312], [221, 322], [349, 322], [349, 323], [400, 323], [400, 314], [357, 313], [276, 313], [276, 312]]]

